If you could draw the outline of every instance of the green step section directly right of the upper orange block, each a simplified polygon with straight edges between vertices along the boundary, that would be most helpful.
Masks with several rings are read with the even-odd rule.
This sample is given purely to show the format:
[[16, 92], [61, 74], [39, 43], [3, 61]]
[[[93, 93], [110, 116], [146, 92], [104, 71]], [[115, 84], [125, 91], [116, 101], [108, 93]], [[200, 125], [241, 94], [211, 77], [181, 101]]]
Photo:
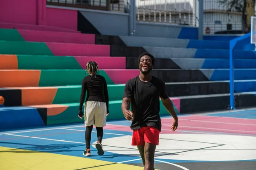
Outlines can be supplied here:
[[82, 69], [73, 56], [17, 55], [18, 69]]

